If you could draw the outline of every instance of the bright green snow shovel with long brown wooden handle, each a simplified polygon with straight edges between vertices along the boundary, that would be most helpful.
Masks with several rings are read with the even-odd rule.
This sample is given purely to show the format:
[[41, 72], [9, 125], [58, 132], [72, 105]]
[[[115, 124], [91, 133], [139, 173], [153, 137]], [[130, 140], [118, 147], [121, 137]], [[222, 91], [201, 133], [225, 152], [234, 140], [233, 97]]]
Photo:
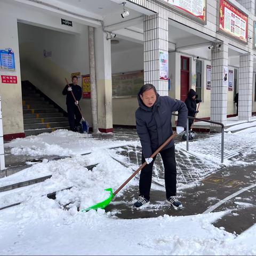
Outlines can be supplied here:
[[[162, 146], [160, 146], [150, 157], [154, 158], [159, 151], [161, 151], [167, 144], [169, 144], [171, 142], [171, 140], [177, 135], [176, 132], [174, 132], [171, 137], [169, 137]], [[82, 212], [87, 212], [90, 210], [97, 210], [97, 209], [104, 209], [107, 205], [109, 205], [109, 203], [112, 201], [112, 199], [115, 197], [115, 195], [137, 174], [141, 171], [141, 169], [143, 169], [145, 166], [147, 165], [147, 162], [144, 162], [138, 169], [137, 171], [135, 171], [114, 193], [113, 193], [113, 189], [112, 188], [107, 188], [105, 189], [106, 191], [109, 191], [109, 197], [98, 203], [98, 204], [94, 204], [86, 209], [81, 210]]]

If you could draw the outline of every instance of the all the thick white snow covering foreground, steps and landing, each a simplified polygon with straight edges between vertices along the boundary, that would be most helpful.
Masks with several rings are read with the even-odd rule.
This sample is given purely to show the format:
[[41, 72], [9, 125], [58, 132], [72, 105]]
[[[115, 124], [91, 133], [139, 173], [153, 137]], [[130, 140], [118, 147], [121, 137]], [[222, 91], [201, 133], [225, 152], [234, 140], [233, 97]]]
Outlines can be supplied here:
[[[105, 200], [109, 192], [104, 189], [115, 191], [130, 177], [134, 170], [119, 163], [125, 161], [124, 157], [109, 148], [131, 144], [139, 142], [98, 140], [67, 130], [6, 143], [5, 147], [12, 147], [16, 155], [67, 157], [57, 161], [45, 158], [0, 179], [0, 187], [4, 187], [51, 175], [36, 185], [0, 193], [0, 208], [21, 203], [0, 211], [0, 255], [256, 254], [256, 225], [240, 235], [214, 227], [213, 223], [230, 211], [131, 220], [118, 219], [115, 212], [102, 209], [77, 211]], [[82, 155], [85, 153], [90, 154]], [[214, 157], [202, 158], [216, 165]], [[89, 165], [95, 165], [92, 171], [85, 167]], [[122, 198], [125, 189], [138, 183], [138, 179], [131, 180], [117, 197]], [[54, 191], [56, 199], [47, 198]], [[215, 200], [218, 198], [209, 198]], [[251, 207], [239, 197], [235, 204]]]

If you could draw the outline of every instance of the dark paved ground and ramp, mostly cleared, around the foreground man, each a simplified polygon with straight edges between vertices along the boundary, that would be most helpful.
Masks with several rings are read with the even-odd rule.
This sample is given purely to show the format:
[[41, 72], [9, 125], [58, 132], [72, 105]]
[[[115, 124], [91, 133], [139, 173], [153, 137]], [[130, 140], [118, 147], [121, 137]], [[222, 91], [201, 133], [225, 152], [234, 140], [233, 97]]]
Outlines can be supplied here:
[[[96, 134], [95, 138], [99, 139], [113, 139], [113, 140], [138, 140], [135, 130], [132, 129], [115, 129], [114, 134]], [[240, 166], [234, 165], [225, 167], [223, 165], [205, 164], [202, 159], [199, 159], [182, 147], [176, 147], [177, 158], [177, 172], [179, 187], [184, 187], [193, 184], [193, 187], [183, 188], [179, 190], [179, 196], [182, 204], [185, 206], [181, 211], [175, 211], [165, 201], [163, 166], [160, 157], [157, 157], [153, 174], [153, 187], [151, 190], [150, 205], [145, 209], [133, 209], [132, 204], [138, 196], [138, 187], [130, 187], [126, 189], [125, 194], [121, 197], [116, 197], [107, 208], [106, 211], [115, 212], [117, 218], [152, 218], [163, 214], [170, 215], [194, 215], [209, 211], [231, 210], [224, 218], [216, 222], [214, 225], [217, 227], [224, 227], [227, 231], [236, 231], [237, 234], [252, 226], [256, 222], [256, 156], [255, 154], [241, 157], [243, 150], [251, 146], [252, 142], [255, 144], [254, 139], [244, 146], [244, 139], [240, 137], [237, 143], [241, 148], [233, 150], [236, 154], [231, 154], [233, 160], [242, 159], [248, 165]], [[205, 147], [206, 142], [207, 147]], [[211, 147], [218, 144], [219, 140], [216, 134], [210, 133], [197, 133], [194, 141], [199, 140], [199, 145], [202, 148], [193, 148], [193, 143], [189, 142], [190, 150], [208, 150], [211, 154], [219, 151], [217, 147]], [[177, 137], [176, 141], [181, 141]], [[235, 147], [236, 142], [229, 141], [226, 136], [225, 145], [228, 147]], [[239, 146], [238, 145], [238, 146]], [[214, 148], [214, 149], [213, 149]], [[232, 148], [231, 148], [232, 149]], [[126, 161], [123, 163], [125, 166], [131, 166], [134, 170], [140, 165], [141, 148], [126, 146], [122, 148], [113, 148], [126, 156]], [[240, 151], [239, 151], [240, 150]], [[242, 150], [242, 151], [241, 151]], [[229, 150], [230, 151], [230, 150]], [[44, 156], [31, 157], [31, 156], [13, 156], [10, 154], [10, 149], [5, 150], [5, 161], [7, 173], [11, 174], [28, 167], [27, 161], [41, 162]], [[218, 155], [216, 155], [218, 156]], [[230, 155], [226, 155], [230, 157]], [[52, 156], [51, 159], [58, 159], [60, 157]], [[49, 159], [49, 156], [47, 156]], [[255, 163], [254, 163], [255, 162]], [[139, 177], [137, 177], [138, 179]], [[226, 198], [226, 199], [225, 199]]]

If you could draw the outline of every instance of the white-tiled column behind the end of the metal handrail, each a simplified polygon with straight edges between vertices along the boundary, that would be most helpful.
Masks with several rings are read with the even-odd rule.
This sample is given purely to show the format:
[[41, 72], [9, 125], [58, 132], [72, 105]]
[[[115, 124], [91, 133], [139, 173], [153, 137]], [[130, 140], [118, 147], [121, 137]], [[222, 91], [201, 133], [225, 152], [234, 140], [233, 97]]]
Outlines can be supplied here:
[[[219, 43], [213, 43], [211, 51], [211, 121], [227, 125], [227, 93], [228, 77], [224, 79], [224, 69], [228, 73], [228, 45], [225, 43], [218, 47]], [[211, 124], [211, 126], [220, 127]]]

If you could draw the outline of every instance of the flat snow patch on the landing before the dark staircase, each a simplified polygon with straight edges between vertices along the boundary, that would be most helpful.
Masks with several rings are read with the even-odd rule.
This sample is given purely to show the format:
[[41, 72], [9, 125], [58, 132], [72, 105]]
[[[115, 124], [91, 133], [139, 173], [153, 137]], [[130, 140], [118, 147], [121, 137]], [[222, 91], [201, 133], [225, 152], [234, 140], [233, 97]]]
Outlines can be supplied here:
[[[11, 147], [13, 155], [30, 156], [76, 156], [90, 153], [94, 149], [110, 148], [127, 145], [127, 141], [113, 141], [110, 139], [97, 140], [91, 134], [57, 130], [51, 133], [31, 135], [5, 143], [4, 147]], [[138, 145], [138, 141], [133, 142]]]

